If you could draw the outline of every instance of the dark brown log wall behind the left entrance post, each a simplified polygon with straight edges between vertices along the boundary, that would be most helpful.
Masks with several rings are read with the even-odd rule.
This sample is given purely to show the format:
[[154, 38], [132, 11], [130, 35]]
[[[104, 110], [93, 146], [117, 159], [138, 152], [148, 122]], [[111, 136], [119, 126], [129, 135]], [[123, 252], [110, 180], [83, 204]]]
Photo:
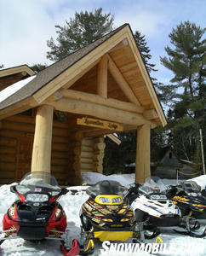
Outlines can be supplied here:
[[[34, 117], [15, 115], [3, 119], [0, 128], [0, 183], [19, 181], [26, 172], [31, 172], [34, 131]], [[74, 145], [70, 125], [54, 120], [51, 173], [61, 185], [74, 183]]]

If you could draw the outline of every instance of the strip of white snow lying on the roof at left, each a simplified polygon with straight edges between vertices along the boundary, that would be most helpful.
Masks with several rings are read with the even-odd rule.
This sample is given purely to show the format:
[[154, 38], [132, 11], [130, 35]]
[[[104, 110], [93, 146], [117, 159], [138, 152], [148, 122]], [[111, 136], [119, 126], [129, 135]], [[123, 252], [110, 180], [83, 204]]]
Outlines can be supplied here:
[[0, 102], [3, 102], [5, 99], [9, 98], [9, 96], [12, 96], [16, 91], [20, 90], [22, 87], [26, 86], [31, 80], [35, 79], [36, 75], [31, 76], [27, 79], [20, 80], [19, 82], [16, 82], [14, 84], [11, 84], [4, 90], [0, 91]]

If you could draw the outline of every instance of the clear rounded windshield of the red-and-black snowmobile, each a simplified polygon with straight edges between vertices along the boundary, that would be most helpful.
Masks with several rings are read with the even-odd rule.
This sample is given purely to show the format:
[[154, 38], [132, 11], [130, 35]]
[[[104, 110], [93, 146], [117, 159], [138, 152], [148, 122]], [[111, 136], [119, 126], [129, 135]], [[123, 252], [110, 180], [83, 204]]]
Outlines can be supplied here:
[[34, 193], [49, 193], [55, 192], [60, 193], [61, 188], [59, 187], [55, 177], [48, 172], [29, 172], [27, 173], [20, 183], [16, 185], [16, 190], [21, 195], [27, 192]]

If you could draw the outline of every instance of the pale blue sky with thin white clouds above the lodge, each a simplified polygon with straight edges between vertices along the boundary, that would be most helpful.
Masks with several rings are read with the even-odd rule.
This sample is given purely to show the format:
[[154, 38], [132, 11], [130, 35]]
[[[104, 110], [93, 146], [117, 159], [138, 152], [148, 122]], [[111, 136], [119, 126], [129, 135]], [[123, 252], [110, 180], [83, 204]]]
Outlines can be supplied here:
[[114, 16], [114, 26], [129, 23], [133, 32], [146, 36], [155, 76], [163, 84], [173, 74], [160, 63], [169, 45], [169, 33], [189, 20], [206, 24], [206, 0], [0, 0], [0, 65], [4, 68], [47, 64], [47, 40], [56, 38], [55, 25], [64, 26], [75, 12], [103, 9]]

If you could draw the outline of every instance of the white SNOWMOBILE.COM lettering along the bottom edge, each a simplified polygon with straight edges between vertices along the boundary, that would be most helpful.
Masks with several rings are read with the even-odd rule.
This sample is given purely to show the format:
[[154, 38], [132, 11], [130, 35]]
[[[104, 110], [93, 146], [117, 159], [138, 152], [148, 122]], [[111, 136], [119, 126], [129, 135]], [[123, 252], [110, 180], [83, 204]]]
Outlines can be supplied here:
[[203, 243], [176, 244], [176, 243], [115, 243], [103, 241], [102, 254], [107, 255], [140, 255], [141, 253], [152, 253], [160, 255], [204, 255]]

